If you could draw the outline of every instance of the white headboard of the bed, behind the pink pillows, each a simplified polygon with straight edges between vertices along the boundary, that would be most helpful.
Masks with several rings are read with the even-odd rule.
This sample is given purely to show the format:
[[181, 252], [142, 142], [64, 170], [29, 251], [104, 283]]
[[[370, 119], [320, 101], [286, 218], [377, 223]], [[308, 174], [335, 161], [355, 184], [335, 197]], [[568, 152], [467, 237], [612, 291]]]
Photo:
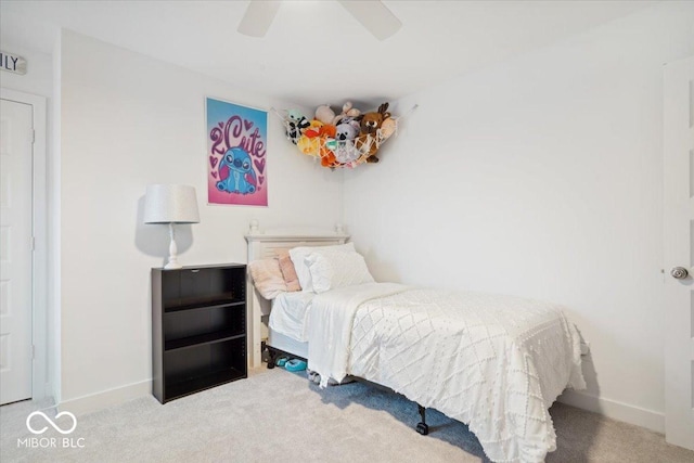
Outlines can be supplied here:
[[[248, 262], [274, 257], [279, 250], [291, 249], [297, 246], [330, 246], [344, 244], [349, 235], [343, 227], [335, 226], [334, 231], [282, 229], [261, 232], [257, 221], [250, 222], [248, 233], [245, 235], [248, 243]], [[247, 352], [248, 368], [260, 366], [260, 345], [268, 338], [268, 316], [270, 314], [270, 301], [262, 298], [255, 287], [248, 272], [246, 276], [247, 297]]]

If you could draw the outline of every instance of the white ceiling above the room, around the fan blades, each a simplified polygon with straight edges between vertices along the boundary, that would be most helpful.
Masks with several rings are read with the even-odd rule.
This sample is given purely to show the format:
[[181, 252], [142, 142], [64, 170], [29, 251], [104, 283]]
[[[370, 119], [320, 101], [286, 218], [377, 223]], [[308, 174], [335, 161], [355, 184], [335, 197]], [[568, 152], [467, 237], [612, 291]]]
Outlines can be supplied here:
[[285, 101], [375, 106], [654, 2], [385, 0], [402, 22], [385, 41], [332, 0], [285, 0], [265, 38], [246, 37], [247, 3], [2, 0], [1, 39], [50, 52], [61, 26]]

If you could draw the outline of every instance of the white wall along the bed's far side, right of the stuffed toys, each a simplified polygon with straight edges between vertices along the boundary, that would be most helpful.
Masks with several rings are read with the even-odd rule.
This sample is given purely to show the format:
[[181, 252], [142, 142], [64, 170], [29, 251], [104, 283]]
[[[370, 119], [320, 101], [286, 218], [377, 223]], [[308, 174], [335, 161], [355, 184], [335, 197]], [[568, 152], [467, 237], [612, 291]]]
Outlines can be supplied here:
[[592, 349], [566, 400], [660, 430], [661, 65], [692, 24], [657, 5], [406, 98], [381, 164], [345, 177], [377, 279], [565, 305]]

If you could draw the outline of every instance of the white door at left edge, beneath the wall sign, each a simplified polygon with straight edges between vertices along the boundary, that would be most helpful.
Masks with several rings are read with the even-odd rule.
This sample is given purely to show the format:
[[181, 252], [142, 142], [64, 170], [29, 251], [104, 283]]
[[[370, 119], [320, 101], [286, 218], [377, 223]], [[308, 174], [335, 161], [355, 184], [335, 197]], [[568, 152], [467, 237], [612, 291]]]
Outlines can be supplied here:
[[0, 404], [31, 397], [33, 107], [0, 100]]

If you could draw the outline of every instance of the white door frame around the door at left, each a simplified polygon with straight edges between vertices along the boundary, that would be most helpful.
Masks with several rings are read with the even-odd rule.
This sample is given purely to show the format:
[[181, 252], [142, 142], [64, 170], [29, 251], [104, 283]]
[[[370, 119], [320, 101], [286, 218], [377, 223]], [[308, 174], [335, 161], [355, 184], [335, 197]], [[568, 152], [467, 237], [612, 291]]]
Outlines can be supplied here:
[[48, 374], [48, 197], [46, 97], [0, 88], [0, 99], [33, 107], [31, 146], [31, 399], [51, 395]]

